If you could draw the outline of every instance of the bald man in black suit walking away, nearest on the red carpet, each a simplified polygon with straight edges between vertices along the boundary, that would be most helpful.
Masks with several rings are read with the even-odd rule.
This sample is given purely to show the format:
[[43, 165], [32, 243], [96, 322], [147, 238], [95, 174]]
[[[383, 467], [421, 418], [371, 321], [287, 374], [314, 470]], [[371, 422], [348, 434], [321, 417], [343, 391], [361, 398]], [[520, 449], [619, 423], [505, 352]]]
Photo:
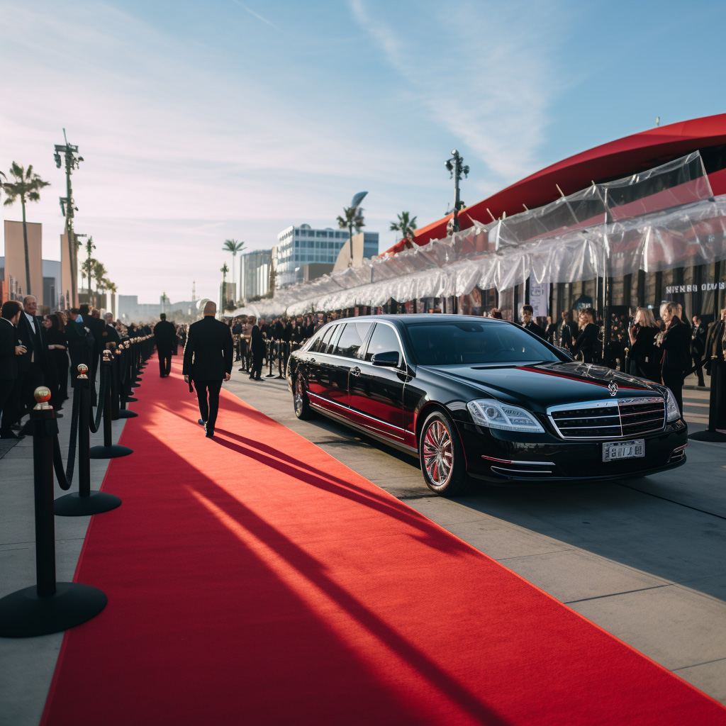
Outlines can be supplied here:
[[[229, 325], [215, 320], [216, 303], [211, 300], [204, 306], [204, 317], [189, 325], [187, 345], [184, 346], [184, 380], [197, 389], [199, 423], [204, 425], [208, 439], [214, 436], [214, 424], [219, 409], [219, 390], [222, 380], [232, 374], [233, 345]], [[209, 401], [207, 402], [207, 392]]]

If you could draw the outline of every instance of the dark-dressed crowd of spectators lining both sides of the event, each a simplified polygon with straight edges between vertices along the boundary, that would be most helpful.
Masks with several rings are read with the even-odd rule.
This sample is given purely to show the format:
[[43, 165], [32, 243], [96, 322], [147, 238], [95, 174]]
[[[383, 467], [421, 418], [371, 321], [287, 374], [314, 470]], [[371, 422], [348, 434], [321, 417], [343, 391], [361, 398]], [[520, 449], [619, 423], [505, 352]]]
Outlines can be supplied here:
[[[160, 375], [171, 372], [171, 356], [184, 348], [189, 334], [188, 325], [175, 325], [161, 314], [160, 321], [149, 325], [124, 325], [110, 313], [102, 318], [97, 309], [87, 305], [67, 311], [55, 311], [38, 316], [38, 303], [27, 295], [23, 303], [3, 304], [0, 317], [0, 438], [15, 439], [20, 420], [35, 404], [33, 393], [45, 385], [51, 391], [51, 404], [62, 417], [63, 402], [68, 399], [69, 370], [78, 364], [89, 366], [95, 383], [102, 351], [110, 343], [118, 344], [138, 335], [155, 337], [159, 354]], [[560, 321], [551, 317], [535, 318], [534, 310], [523, 305], [521, 325], [549, 343], [564, 348], [585, 363], [603, 364], [632, 375], [664, 383], [674, 393], [682, 410], [682, 386], [689, 372], [696, 372], [698, 386], [705, 386], [703, 369], [714, 376], [716, 388], [726, 395], [726, 309], [721, 317], [706, 329], [698, 316], [692, 324], [684, 316], [679, 303], [663, 303], [656, 317], [653, 310], [638, 308], [632, 318], [611, 316], [608, 341], [603, 344], [603, 319], [588, 307], [560, 314]], [[502, 318], [499, 309], [489, 317]], [[226, 318], [234, 362], [250, 380], [262, 380], [263, 367], [269, 369], [266, 378], [285, 378], [290, 354], [300, 348], [322, 325], [338, 317], [335, 312], [297, 317], [280, 316], [266, 320], [255, 316]], [[71, 386], [75, 380], [70, 375]], [[714, 386], [712, 385], [713, 389]], [[91, 386], [91, 402], [95, 405], [96, 386]], [[721, 407], [717, 428], [726, 431], [726, 406]]]

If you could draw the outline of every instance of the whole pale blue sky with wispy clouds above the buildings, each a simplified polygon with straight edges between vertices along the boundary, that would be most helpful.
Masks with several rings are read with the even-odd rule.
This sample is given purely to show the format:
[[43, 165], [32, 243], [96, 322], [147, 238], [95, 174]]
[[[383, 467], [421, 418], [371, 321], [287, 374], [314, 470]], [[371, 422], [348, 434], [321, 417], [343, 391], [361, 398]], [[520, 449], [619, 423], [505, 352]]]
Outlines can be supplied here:
[[[70, 0], [0, 5], [0, 168], [52, 182], [28, 219], [57, 258], [62, 128], [78, 232], [121, 293], [214, 296], [228, 237], [335, 226], [365, 189], [381, 251], [407, 210], [467, 203], [597, 144], [725, 110], [722, 2]], [[20, 219], [20, 208], [4, 208]]]

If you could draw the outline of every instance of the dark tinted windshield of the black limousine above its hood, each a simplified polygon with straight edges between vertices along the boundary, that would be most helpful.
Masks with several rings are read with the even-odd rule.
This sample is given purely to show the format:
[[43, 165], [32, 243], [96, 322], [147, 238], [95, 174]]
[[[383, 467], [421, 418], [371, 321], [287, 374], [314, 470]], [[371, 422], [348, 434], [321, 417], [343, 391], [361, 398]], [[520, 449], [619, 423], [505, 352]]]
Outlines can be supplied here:
[[521, 328], [462, 320], [408, 325], [421, 365], [558, 361], [557, 354]]

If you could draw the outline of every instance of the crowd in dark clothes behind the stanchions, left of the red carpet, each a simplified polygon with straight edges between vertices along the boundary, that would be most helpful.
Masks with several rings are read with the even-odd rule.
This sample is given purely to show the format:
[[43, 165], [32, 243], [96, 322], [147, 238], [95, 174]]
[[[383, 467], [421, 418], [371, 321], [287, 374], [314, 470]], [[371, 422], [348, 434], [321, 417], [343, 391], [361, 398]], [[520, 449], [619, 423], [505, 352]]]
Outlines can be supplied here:
[[[89, 367], [91, 403], [97, 404], [95, 381], [102, 351], [111, 343], [149, 335], [148, 325], [123, 325], [104, 317], [88, 305], [38, 315], [38, 301], [25, 295], [23, 302], [10, 300], [0, 311], [0, 439], [20, 439], [23, 416], [36, 404], [38, 386], [46, 386], [57, 418], [62, 418], [64, 401], [75, 372], [83, 363]], [[69, 375], [70, 371], [70, 375]]]

